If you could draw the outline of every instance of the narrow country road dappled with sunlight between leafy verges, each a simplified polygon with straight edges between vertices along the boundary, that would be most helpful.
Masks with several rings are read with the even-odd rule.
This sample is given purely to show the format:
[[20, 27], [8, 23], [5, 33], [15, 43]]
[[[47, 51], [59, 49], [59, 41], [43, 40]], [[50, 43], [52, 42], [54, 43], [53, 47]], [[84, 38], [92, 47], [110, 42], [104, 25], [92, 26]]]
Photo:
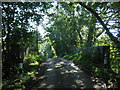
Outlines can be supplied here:
[[51, 58], [43, 64], [45, 74], [39, 76], [39, 79], [43, 80], [38, 82], [33, 90], [38, 88], [100, 88], [72, 61]]

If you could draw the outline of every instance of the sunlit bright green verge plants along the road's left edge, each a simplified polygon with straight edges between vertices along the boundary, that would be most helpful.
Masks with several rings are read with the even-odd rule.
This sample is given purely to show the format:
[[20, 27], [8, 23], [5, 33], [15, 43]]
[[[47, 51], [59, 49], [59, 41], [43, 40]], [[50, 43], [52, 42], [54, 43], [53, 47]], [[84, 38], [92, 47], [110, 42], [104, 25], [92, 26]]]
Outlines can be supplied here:
[[23, 78], [19, 81], [19, 74], [18, 78], [13, 80], [16, 82], [14, 85], [10, 85], [9, 82], [4, 82], [3, 87], [7, 86], [7, 88], [21, 86], [23, 85], [24, 88], [28, 87], [28, 85], [33, 81], [35, 74], [37, 74], [37, 70], [39, 69], [40, 63], [45, 59], [44, 56], [39, 56], [36, 53], [30, 53], [28, 56], [25, 56], [24, 63], [23, 63]]

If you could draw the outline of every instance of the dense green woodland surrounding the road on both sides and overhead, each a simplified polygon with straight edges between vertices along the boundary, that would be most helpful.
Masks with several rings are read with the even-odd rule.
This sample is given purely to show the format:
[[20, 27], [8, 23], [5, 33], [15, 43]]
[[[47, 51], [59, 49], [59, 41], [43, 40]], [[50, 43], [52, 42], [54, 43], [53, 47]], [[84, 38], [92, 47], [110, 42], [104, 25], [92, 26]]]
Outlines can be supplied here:
[[[2, 2], [3, 87], [27, 86], [40, 63], [58, 57], [87, 66], [95, 76], [118, 87], [119, 12], [118, 2]], [[39, 25], [44, 35], [36, 28]], [[107, 77], [98, 58], [99, 46], [109, 46]], [[17, 82], [20, 60], [23, 80]]]

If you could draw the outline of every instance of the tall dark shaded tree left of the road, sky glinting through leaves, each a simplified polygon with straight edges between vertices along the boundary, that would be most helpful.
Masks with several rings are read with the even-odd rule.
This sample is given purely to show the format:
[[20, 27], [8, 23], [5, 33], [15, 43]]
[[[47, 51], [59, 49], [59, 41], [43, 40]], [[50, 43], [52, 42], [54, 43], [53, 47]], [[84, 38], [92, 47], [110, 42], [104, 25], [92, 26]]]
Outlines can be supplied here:
[[37, 7], [42, 5], [28, 2], [2, 3], [3, 79], [12, 77], [17, 72], [20, 46], [26, 49], [35, 43], [30, 20], [39, 24], [42, 19], [42, 15], [36, 10]]

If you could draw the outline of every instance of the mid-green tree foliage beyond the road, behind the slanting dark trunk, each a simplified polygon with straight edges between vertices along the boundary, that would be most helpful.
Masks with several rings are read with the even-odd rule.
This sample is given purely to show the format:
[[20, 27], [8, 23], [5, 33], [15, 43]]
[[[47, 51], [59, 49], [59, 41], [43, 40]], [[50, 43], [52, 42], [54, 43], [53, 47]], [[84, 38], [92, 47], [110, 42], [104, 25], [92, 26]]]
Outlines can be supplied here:
[[[107, 13], [109, 10], [112, 10], [111, 3], [103, 3], [103, 5], [100, 3], [88, 3], [87, 5], [100, 13], [103, 20], [108, 20], [107, 24], [111, 21], [104, 15], [105, 12]], [[112, 36], [108, 35], [109, 38], [105, 36], [105, 38], [103, 37], [104, 40], [99, 38], [105, 30], [99, 27], [100, 23], [92, 15], [93, 13], [91, 14], [85, 8], [79, 6], [79, 3], [60, 2], [57, 3], [57, 8], [55, 9], [54, 15], [49, 16], [51, 25], [50, 27], [46, 26], [46, 31], [48, 32], [46, 37], [49, 37], [51, 40], [58, 56], [71, 54], [75, 51], [76, 47], [82, 45], [89, 47], [110, 44], [109, 38], [112, 38]], [[114, 13], [112, 11], [110, 13], [110, 17], [112, 17]]]

